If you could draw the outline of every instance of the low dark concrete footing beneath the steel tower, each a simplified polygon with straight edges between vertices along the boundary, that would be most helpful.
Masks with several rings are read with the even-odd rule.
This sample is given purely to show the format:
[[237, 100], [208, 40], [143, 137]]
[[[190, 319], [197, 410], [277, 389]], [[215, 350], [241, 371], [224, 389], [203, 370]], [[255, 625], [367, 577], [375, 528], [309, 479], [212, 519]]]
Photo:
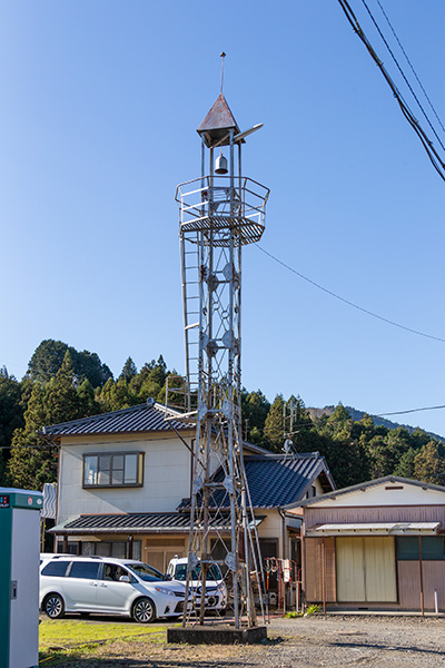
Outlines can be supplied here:
[[188, 645], [254, 645], [267, 638], [266, 627], [236, 629], [229, 626], [168, 628], [167, 642]]

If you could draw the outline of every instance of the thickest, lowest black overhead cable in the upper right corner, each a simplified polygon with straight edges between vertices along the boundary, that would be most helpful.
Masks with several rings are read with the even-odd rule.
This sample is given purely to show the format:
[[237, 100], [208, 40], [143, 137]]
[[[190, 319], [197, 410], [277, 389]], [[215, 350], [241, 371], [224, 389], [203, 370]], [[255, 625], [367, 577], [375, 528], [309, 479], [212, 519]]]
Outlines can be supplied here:
[[422, 141], [422, 145], [425, 148], [426, 154], [433, 164], [433, 167], [435, 168], [437, 174], [441, 176], [442, 180], [445, 181], [445, 163], [441, 158], [437, 150], [434, 148], [433, 141], [426, 135], [425, 130], [422, 128], [421, 124], [414, 116], [413, 111], [409, 109], [408, 105], [403, 99], [402, 94], [399, 92], [397, 86], [394, 84], [393, 79], [390, 78], [389, 73], [387, 72], [386, 68], [384, 67], [383, 61], [379, 59], [376, 51], [372, 47], [369, 40], [365, 36], [365, 33], [364, 33], [359, 22], [357, 21], [357, 18], [356, 18], [355, 13], [353, 12], [347, 0], [338, 0], [338, 2], [340, 4], [343, 11], [345, 12], [346, 18], [348, 19], [350, 26], [353, 27], [354, 31], [358, 35], [358, 37], [365, 45], [368, 53], [370, 55], [373, 60], [376, 62], [382, 75], [384, 76], [387, 85], [389, 86], [390, 90], [393, 91], [394, 97], [396, 98], [398, 106], [400, 107], [402, 114], [405, 116], [406, 120], [409, 122], [413, 130], [416, 132], [417, 137]]

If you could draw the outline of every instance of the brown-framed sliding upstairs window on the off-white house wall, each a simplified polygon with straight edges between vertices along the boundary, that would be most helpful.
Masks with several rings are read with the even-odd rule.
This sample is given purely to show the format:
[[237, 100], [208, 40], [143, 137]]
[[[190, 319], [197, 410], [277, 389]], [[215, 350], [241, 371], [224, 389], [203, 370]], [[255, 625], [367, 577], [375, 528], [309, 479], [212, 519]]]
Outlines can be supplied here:
[[142, 452], [83, 455], [83, 487], [141, 487]]

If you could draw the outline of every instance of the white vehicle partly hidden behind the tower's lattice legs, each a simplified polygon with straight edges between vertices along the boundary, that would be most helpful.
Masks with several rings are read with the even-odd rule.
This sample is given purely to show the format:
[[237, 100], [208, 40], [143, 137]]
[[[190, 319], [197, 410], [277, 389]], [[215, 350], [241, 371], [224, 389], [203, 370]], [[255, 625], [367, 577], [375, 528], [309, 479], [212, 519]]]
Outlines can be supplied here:
[[[200, 563], [198, 563], [191, 573], [191, 600], [195, 598], [196, 609], [200, 606], [201, 580], [200, 580]], [[186, 582], [187, 580], [187, 558], [175, 556], [170, 559], [167, 568], [167, 577]], [[225, 615], [227, 608], [227, 587], [222, 578], [221, 570], [217, 563], [211, 563], [206, 578], [206, 612], [217, 612]]]

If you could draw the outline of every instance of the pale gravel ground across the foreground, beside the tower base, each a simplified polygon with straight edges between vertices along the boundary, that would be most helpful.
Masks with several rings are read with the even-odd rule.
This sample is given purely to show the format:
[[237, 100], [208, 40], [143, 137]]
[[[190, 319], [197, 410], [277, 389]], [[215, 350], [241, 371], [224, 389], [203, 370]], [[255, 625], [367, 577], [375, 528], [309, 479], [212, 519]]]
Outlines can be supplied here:
[[[256, 646], [107, 644], [70, 668], [445, 668], [445, 618], [274, 619]], [[50, 664], [49, 664], [50, 666]], [[59, 666], [61, 666], [59, 664]]]

